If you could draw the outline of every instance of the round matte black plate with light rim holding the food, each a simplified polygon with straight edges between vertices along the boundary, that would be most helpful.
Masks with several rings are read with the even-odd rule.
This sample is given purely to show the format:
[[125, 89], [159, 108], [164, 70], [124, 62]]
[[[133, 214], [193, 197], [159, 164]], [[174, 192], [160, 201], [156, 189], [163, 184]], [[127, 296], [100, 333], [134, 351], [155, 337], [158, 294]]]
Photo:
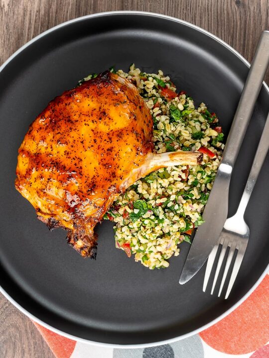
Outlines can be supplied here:
[[[91, 72], [134, 62], [146, 72], [159, 68], [179, 90], [231, 125], [246, 61], [221, 40], [188, 23], [157, 14], [86, 16], [38, 36], [0, 72], [0, 283], [5, 295], [39, 322], [88, 341], [138, 345], [176, 339], [212, 323], [259, 281], [269, 252], [269, 158], [246, 213], [249, 246], [228, 300], [202, 292], [204, 268], [178, 284], [189, 249], [168, 269], [150, 271], [116, 250], [113, 224], [97, 228], [97, 261], [83, 259], [49, 232], [33, 207], [14, 189], [17, 149], [28, 125], [49, 100]], [[229, 213], [235, 212], [269, 110], [262, 88], [231, 183]], [[220, 193], [221, 205], [221, 193]]]

